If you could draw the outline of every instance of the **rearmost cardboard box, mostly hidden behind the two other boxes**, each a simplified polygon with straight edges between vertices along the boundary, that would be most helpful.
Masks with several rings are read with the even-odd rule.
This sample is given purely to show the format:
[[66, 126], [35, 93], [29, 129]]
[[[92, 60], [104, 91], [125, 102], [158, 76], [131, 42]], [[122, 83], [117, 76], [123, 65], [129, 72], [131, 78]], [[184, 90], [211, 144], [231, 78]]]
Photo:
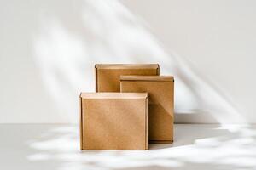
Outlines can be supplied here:
[[119, 77], [121, 75], [159, 75], [158, 64], [122, 65], [122, 64], [96, 64], [96, 92], [120, 92]]

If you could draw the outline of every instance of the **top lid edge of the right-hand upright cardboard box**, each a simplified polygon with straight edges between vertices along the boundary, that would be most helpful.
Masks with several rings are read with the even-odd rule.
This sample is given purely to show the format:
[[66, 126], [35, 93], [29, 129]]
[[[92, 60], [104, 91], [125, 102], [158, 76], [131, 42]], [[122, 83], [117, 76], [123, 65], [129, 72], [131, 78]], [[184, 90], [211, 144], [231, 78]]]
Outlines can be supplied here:
[[120, 76], [120, 81], [173, 82], [172, 76]]

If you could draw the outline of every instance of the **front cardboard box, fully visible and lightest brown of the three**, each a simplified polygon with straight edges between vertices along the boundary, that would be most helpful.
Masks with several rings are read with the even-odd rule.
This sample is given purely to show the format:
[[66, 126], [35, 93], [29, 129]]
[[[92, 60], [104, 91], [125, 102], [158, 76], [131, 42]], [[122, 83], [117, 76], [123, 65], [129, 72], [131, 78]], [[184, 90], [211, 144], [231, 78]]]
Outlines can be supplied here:
[[148, 150], [147, 93], [80, 94], [81, 150]]

